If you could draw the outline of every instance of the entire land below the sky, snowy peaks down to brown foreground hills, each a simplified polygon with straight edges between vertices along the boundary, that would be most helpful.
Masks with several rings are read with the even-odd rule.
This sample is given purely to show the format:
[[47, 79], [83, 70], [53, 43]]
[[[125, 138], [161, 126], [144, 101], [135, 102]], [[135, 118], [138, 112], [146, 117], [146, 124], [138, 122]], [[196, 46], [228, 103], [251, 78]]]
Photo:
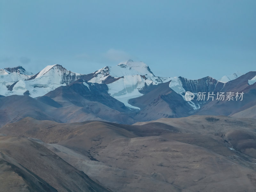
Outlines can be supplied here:
[[256, 71], [0, 69], [0, 191], [255, 191]]

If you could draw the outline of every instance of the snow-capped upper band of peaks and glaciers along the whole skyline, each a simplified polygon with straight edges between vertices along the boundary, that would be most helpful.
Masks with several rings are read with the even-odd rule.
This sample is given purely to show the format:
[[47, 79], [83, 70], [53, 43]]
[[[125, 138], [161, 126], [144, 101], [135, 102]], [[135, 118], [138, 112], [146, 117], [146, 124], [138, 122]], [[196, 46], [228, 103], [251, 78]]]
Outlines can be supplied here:
[[[140, 97], [153, 86], [170, 82], [169, 88], [175, 91], [185, 100], [185, 92], [212, 92], [221, 90], [225, 83], [222, 81], [234, 79], [241, 73], [224, 76], [217, 81], [212, 77], [198, 80], [189, 80], [183, 77], [158, 77], [155, 76], [148, 65], [141, 61], [127, 60], [114, 67], [104, 67], [98, 71], [83, 75], [63, 68], [61, 65], [45, 67], [36, 75], [26, 71], [21, 66], [16, 68], [0, 69], [0, 95], [29, 95], [33, 98], [43, 96], [60, 86], [66, 86], [78, 79], [84, 79], [90, 83], [106, 84], [108, 94], [116, 100], [124, 103], [126, 107], [140, 109], [131, 105], [129, 100]], [[252, 77], [251, 77], [252, 78]], [[248, 79], [249, 84], [255, 82], [255, 77]], [[199, 109], [202, 103], [185, 101], [193, 109]]]

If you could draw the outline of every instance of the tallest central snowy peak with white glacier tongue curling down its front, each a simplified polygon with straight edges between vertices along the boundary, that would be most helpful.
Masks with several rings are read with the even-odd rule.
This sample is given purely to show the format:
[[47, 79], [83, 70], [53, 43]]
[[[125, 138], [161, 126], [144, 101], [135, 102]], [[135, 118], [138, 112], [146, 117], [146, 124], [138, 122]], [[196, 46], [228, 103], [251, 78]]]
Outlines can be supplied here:
[[143, 95], [145, 86], [157, 85], [170, 81], [172, 78], [155, 76], [148, 65], [141, 61], [128, 60], [114, 67], [104, 67], [92, 74], [92, 83], [105, 83], [108, 93], [125, 106], [140, 109], [128, 103], [132, 98]]

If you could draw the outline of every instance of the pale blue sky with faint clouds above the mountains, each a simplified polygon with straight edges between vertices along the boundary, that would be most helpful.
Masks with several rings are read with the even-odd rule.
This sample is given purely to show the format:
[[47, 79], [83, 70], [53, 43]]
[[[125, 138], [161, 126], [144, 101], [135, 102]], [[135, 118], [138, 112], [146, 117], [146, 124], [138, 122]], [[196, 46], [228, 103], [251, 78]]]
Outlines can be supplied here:
[[126, 59], [156, 76], [256, 70], [255, 0], [0, 0], [0, 68], [88, 74]]

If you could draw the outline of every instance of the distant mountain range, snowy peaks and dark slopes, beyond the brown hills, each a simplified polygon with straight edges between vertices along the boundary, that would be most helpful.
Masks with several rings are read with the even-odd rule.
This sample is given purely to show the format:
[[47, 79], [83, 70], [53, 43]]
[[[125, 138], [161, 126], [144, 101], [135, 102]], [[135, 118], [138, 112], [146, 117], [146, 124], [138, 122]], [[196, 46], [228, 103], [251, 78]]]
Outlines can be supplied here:
[[[145, 63], [132, 60], [86, 75], [61, 65], [47, 66], [36, 75], [21, 66], [4, 68], [0, 69], [0, 126], [26, 116], [60, 123], [122, 124], [190, 115], [255, 118], [256, 71], [233, 74], [228, 82], [223, 79], [158, 77]], [[195, 95], [193, 100], [186, 100], [188, 91]], [[205, 100], [198, 100], [199, 92], [205, 92]], [[242, 100], [217, 100], [218, 92], [244, 94]], [[215, 98], [207, 100], [208, 93]]]

